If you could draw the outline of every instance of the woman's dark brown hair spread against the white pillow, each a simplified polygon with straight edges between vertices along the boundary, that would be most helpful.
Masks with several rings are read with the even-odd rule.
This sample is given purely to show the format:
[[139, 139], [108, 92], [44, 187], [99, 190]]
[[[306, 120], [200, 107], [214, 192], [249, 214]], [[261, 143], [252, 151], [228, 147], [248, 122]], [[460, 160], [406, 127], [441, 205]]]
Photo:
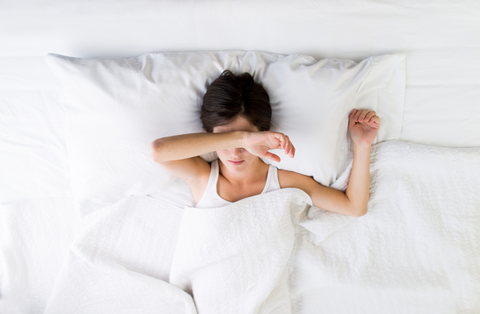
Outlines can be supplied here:
[[201, 119], [203, 128], [229, 124], [238, 116], [246, 118], [259, 131], [270, 129], [272, 108], [267, 91], [244, 72], [240, 75], [225, 70], [210, 84], [203, 96]]

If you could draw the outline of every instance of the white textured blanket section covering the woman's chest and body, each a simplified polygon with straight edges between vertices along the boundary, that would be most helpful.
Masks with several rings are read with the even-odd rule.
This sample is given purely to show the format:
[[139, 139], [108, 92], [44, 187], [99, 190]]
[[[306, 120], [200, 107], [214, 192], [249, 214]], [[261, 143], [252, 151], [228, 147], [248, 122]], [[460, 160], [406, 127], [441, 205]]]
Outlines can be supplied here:
[[199, 313], [292, 313], [295, 223], [309, 204], [302, 190], [281, 189], [186, 207], [170, 283], [193, 295]]

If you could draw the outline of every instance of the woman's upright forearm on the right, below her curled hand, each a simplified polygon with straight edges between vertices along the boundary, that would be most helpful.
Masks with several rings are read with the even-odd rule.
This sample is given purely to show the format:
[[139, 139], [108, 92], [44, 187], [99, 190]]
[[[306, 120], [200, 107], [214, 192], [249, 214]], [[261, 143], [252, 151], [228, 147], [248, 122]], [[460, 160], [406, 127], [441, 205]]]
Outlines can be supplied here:
[[353, 165], [346, 195], [354, 210], [363, 215], [367, 212], [370, 193], [370, 148], [353, 146]]

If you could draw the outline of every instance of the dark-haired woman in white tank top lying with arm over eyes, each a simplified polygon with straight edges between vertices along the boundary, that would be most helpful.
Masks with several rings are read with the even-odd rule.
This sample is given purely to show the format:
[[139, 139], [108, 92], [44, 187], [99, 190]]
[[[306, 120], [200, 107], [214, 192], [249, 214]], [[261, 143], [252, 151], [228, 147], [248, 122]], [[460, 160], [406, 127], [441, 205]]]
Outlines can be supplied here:
[[[202, 123], [207, 133], [156, 139], [152, 159], [192, 190], [196, 207], [221, 207], [243, 198], [280, 188], [298, 188], [313, 205], [359, 217], [367, 213], [370, 189], [370, 147], [380, 127], [375, 111], [354, 109], [349, 116], [353, 166], [345, 192], [323, 186], [311, 177], [280, 170], [259, 157], [280, 161], [271, 149], [293, 158], [287, 135], [270, 132], [272, 110], [265, 89], [248, 73], [224, 71], [203, 97]], [[211, 164], [199, 155], [216, 151]]]

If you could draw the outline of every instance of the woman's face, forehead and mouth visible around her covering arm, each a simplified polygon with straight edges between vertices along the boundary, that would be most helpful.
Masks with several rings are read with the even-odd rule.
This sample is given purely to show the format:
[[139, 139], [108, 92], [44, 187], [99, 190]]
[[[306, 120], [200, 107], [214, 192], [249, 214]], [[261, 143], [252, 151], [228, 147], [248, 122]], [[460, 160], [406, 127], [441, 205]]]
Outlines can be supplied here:
[[[213, 133], [224, 133], [233, 131], [258, 131], [257, 127], [250, 123], [242, 116], [238, 116], [233, 122], [216, 126], [213, 128]], [[230, 172], [240, 173], [245, 171], [258, 158], [250, 154], [244, 148], [231, 148], [217, 150], [218, 158], [227, 167]]]

